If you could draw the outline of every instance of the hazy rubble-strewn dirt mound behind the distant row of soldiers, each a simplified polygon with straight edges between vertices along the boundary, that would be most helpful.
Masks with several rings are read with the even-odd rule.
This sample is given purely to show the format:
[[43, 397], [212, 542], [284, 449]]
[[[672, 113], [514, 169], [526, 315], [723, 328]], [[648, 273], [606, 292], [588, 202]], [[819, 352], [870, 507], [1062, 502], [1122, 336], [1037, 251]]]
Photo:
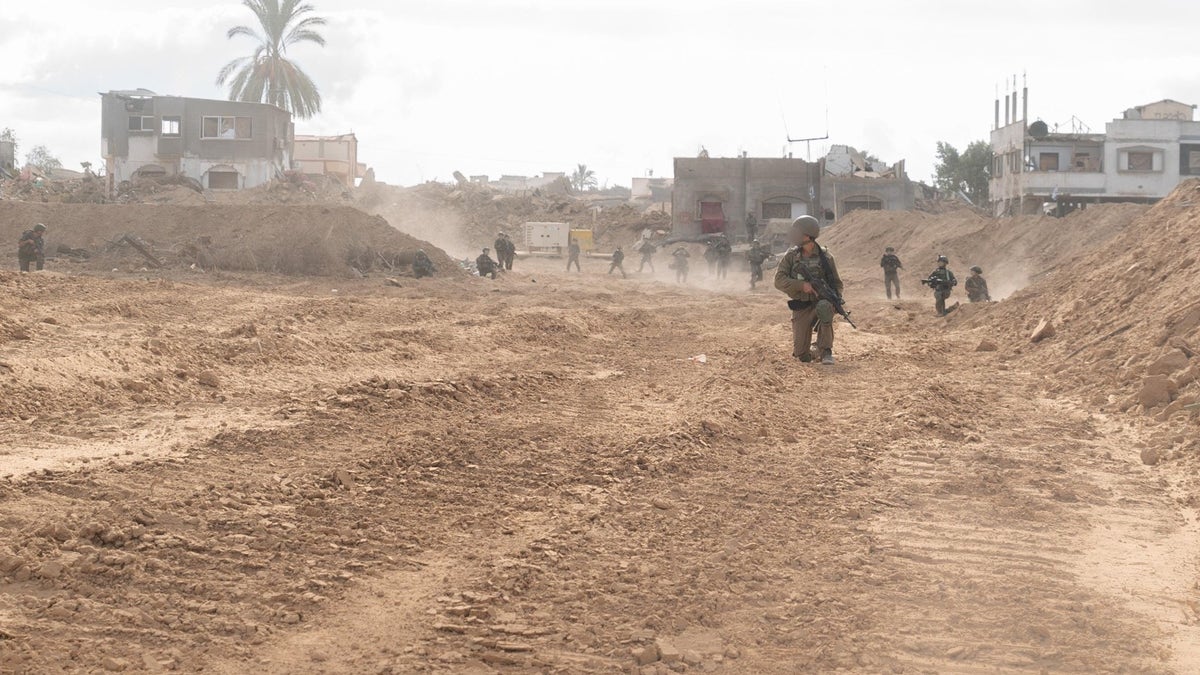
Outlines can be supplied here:
[[502, 231], [516, 235], [526, 222], [569, 222], [590, 228], [600, 249], [629, 245], [647, 227], [671, 227], [670, 214], [628, 203], [589, 201], [554, 191], [509, 195], [480, 185], [427, 183], [396, 187], [378, 183], [359, 189], [355, 205], [461, 256], [474, 256], [479, 249], [491, 246]]

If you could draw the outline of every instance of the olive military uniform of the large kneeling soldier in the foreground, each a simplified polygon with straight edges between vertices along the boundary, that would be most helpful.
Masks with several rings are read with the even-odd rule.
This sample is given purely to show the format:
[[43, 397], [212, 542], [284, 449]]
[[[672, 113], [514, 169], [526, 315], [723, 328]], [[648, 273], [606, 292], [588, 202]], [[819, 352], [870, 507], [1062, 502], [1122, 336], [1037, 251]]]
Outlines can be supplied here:
[[[834, 315], [833, 305], [828, 300], [820, 299], [815, 293], [804, 292], [805, 274], [809, 279], [824, 281], [839, 295], [845, 288], [833, 255], [820, 244], [814, 244], [814, 246], [811, 256], [805, 256], [800, 246], [788, 249], [775, 273], [775, 288], [793, 300], [790, 303], [792, 307], [792, 356], [804, 362], [812, 360], [814, 327], [817, 329], [817, 351], [821, 354], [833, 351]], [[821, 262], [822, 253], [824, 264]], [[802, 270], [804, 271], [802, 273]]]

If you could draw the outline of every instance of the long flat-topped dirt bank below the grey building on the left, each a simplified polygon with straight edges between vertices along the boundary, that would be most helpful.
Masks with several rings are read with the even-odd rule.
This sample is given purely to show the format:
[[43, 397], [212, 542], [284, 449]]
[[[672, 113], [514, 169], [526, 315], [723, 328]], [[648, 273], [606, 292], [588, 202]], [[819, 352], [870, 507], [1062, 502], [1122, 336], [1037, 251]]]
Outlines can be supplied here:
[[397, 268], [407, 273], [413, 253], [424, 249], [439, 274], [464, 274], [440, 249], [349, 207], [0, 202], [0, 240], [16, 246], [35, 222], [49, 226], [47, 257], [70, 250], [54, 264], [71, 259], [97, 270], [155, 268], [157, 262], [275, 274], [394, 274]]

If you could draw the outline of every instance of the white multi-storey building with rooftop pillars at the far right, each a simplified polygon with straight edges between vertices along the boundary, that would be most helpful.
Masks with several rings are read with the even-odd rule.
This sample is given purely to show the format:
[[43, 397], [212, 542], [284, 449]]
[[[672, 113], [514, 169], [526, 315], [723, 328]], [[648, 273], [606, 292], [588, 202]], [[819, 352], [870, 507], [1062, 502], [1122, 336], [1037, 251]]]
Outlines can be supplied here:
[[[1020, 103], [1020, 113], [1018, 107]], [[1195, 106], [1159, 101], [1129, 108], [1092, 133], [1027, 120], [1028, 90], [996, 102], [989, 199], [995, 215], [1031, 214], [1050, 204], [1153, 203], [1200, 177]]]

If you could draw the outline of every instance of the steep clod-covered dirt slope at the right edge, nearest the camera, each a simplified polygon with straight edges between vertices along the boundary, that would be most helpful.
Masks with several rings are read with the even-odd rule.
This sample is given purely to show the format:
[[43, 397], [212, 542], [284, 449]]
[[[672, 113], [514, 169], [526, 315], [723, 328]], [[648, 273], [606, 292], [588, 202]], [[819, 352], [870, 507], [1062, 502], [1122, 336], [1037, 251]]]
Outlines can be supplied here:
[[[1200, 180], [1192, 180], [1009, 301], [971, 307], [954, 322], [1004, 336], [1013, 356], [1052, 374], [1050, 392], [1194, 426], [1200, 419], [1198, 231]], [[1043, 321], [1052, 330], [1034, 340]]]

